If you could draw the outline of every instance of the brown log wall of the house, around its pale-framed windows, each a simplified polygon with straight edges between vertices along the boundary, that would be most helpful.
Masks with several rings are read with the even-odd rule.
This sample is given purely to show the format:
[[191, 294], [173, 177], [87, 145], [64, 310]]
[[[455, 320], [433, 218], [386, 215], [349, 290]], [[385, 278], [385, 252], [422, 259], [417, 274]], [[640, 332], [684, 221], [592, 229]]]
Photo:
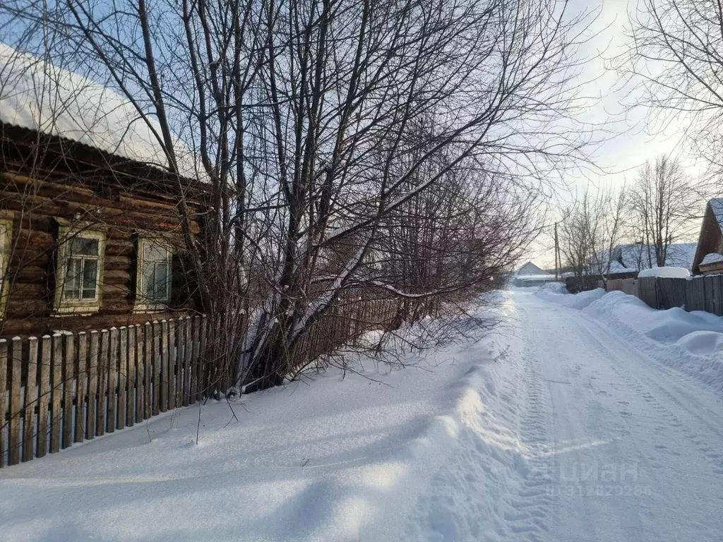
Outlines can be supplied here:
[[[38, 173], [40, 176], [40, 173]], [[134, 314], [138, 232], [179, 232], [176, 201], [169, 194], [148, 189], [124, 189], [111, 176], [80, 182], [58, 173], [36, 177], [0, 173], [0, 212], [13, 218], [9, 298], [0, 336], [45, 335], [54, 330], [120, 327], [145, 322]], [[110, 187], [110, 189], [106, 189]], [[100, 311], [90, 316], [52, 316], [54, 302], [56, 219], [98, 223], [106, 229]], [[200, 233], [197, 222], [194, 233]], [[178, 259], [174, 261], [178, 265]], [[179, 273], [176, 273], [179, 275]], [[193, 300], [173, 281], [177, 310], [162, 317], [178, 317], [193, 308]]]

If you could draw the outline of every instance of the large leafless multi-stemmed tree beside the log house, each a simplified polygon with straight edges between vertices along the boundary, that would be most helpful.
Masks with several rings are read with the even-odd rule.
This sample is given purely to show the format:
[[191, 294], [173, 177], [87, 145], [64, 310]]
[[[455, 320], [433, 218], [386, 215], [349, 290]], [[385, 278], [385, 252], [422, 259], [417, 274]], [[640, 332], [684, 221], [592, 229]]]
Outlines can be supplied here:
[[[208, 387], [223, 393], [282, 382], [309, 329], [360, 289], [405, 302], [472, 295], [513, 262], [531, 202], [584, 158], [573, 79], [586, 23], [566, 7], [10, 0], [1, 9], [16, 44], [114, 88], [163, 147], [210, 321]], [[190, 185], [206, 194], [200, 239]]]

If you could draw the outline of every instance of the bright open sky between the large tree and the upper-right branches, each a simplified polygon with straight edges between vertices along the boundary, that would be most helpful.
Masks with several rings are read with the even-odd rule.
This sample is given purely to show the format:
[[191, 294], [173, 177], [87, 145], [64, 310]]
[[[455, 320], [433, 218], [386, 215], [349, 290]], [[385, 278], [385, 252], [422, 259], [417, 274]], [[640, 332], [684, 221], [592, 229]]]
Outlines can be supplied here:
[[[597, 188], [620, 189], [625, 183], [630, 184], [636, 170], [646, 160], [654, 160], [656, 155], [662, 153], [678, 155], [690, 176], [700, 174], [699, 161], [686, 155], [680, 145], [680, 132], [685, 121], [679, 120], [677, 124], [668, 126], [663, 131], [651, 125], [647, 112], [642, 107], [628, 107], [629, 104], [636, 103], [639, 91], [633, 85], [625, 85], [620, 75], [610, 69], [611, 60], [626, 51], [628, 38], [625, 30], [630, 27], [628, 13], [635, 11], [638, 1], [570, 0], [571, 12], [587, 10], [597, 14], [591, 26], [591, 38], [581, 51], [590, 60], [580, 78], [587, 82], [584, 95], [589, 96], [590, 101], [586, 120], [605, 124], [608, 135], [592, 153], [597, 169], [568, 176], [565, 179], [568, 189], [562, 189], [556, 194], [557, 201], [554, 205], [557, 207], [570, 201], [573, 194], [583, 192], [586, 187], [590, 187], [594, 192]], [[556, 212], [552, 211], [547, 223], [555, 222]], [[696, 229], [693, 226], [692, 231]], [[695, 236], [690, 240], [695, 241]], [[554, 266], [552, 227], [536, 239], [524, 261], [527, 259], [541, 267]]]

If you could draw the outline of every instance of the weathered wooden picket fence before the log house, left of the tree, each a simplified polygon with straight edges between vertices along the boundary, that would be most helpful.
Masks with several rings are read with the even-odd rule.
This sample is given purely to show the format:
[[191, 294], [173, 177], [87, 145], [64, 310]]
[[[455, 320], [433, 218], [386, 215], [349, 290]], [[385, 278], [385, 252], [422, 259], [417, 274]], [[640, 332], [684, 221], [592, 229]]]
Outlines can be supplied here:
[[205, 317], [0, 340], [0, 467], [202, 399]]

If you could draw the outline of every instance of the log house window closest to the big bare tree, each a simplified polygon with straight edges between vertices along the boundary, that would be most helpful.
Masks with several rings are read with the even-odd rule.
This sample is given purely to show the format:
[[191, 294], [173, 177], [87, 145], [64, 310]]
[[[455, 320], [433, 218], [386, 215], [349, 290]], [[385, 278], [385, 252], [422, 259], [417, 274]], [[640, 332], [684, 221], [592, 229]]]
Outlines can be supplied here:
[[173, 250], [163, 238], [140, 236], [136, 274], [136, 311], [163, 310], [171, 303]]

